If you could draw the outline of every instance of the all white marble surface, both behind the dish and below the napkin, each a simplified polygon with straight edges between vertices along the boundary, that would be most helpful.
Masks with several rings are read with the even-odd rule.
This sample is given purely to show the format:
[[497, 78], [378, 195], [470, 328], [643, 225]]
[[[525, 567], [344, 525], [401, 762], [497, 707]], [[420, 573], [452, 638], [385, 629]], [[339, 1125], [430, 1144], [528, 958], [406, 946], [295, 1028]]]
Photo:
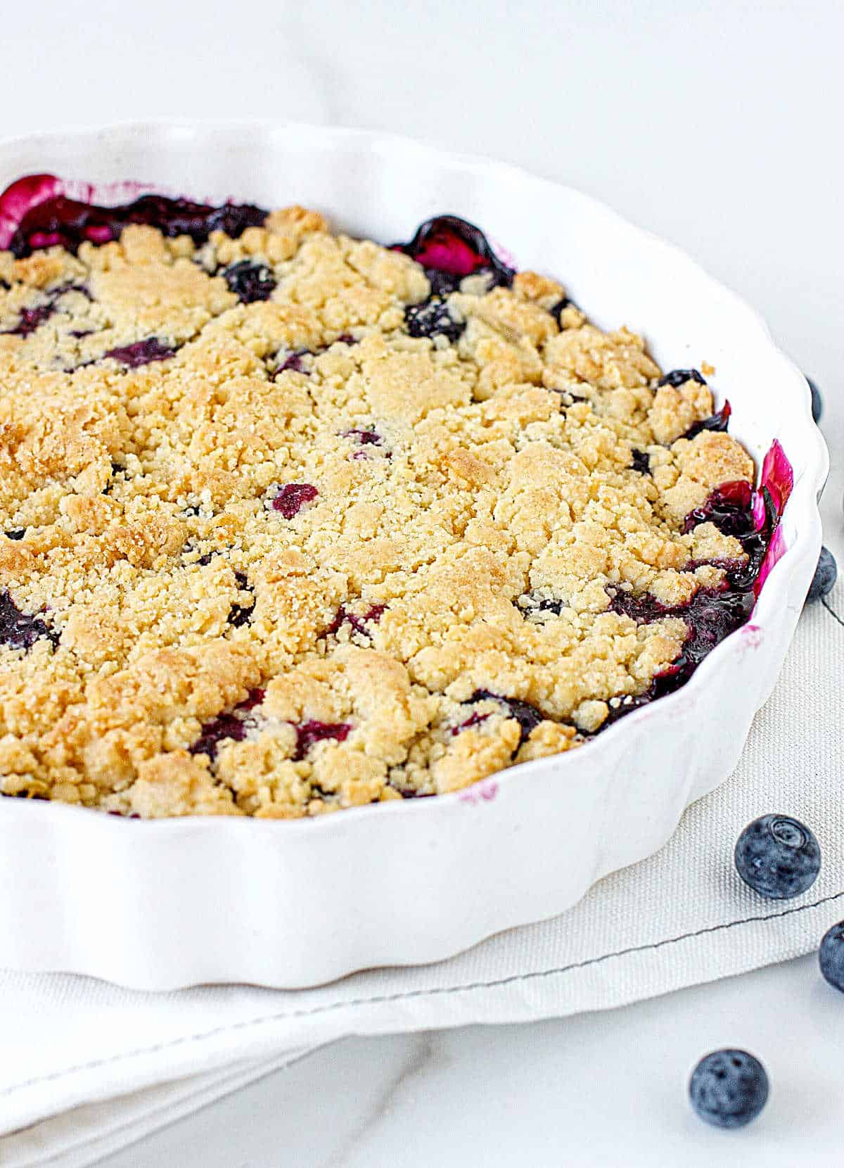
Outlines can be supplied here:
[[[840, 2], [48, 0], [2, 23], [2, 135], [271, 116], [519, 162], [679, 243], [761, 310], [828, 418], [844, 412]], [[844, 997], [807, 958], [604, 1015], [353, 1040], [107, 1168], [838, 1164], [842, 1035]], [[772, 1075], [742, 1133], [705, 1129], [684, 1099], [726, 1043]]]

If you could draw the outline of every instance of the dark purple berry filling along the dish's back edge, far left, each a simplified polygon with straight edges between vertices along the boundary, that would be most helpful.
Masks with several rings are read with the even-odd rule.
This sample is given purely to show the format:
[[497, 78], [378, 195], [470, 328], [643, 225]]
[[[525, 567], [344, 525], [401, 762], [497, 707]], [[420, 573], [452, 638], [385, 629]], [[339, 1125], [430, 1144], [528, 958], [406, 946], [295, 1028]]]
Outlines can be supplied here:
[[39, 248], [61, 244], [76, 253], [85, 241], [118, 239], [128, 223], [146, 223], [170, 238], [189, 235], [194, 243], [205, 243], [211, 231], [224, 231], [235, 239], [247, 227], [261, 227], [266, 215], [251, 203], [212, 207], [187, 199], [142, 195], [120, 207], [97, 207], [57, 195], [30, 207], [12, 237], [9, 250], [20, 258]]

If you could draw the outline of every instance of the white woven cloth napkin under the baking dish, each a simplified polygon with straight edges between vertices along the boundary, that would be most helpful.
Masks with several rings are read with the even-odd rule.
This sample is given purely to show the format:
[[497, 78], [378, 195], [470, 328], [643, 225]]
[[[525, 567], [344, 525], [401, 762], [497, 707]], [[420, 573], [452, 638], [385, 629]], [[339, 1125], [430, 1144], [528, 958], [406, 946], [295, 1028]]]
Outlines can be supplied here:
[[[837, 480], [824, 505], [844, 568]], [[295, 992], [145, 994], [0, 972], [0, 1163], [83, 1168], [341, 1036], [602, 1009], [809, 952], [844, 918], [843, 690], [839, 580], [801, 618], [738, 769], [662, 851], [563, 916], [449, 961]], [[733, 870], [738, 833], [770, 811], [804, 820], [823, 849], [821, 876], [794, 902], [760, 899]]]

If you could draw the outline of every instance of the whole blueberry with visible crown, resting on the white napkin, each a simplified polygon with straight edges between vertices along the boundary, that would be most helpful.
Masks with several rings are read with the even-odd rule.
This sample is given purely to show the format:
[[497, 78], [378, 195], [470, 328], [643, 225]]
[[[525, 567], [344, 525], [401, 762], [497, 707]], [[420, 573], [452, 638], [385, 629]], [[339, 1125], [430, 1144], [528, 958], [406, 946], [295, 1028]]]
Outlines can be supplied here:
[[735, 842], [735, 868], [754, 892], [772, 901], [800, 896], [817, 880], [821, 848], [800, 820], [762, 815]]

